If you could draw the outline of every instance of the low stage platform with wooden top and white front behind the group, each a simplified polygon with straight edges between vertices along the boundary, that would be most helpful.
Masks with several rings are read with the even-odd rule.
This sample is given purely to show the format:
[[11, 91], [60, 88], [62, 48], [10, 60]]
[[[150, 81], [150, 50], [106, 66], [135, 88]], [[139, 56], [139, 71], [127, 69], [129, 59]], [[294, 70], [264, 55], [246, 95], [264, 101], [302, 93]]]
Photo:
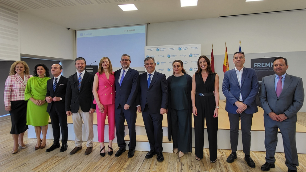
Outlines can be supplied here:
[[[229, 137], [229, 118], [228, 114], [225, 111], [225, 103], [224, 100], [220, 100], [219, 106], [219, 123], [218, 123], [218, 149], [231, 149], [230, 148], [230, 137]], [[72, 117], [68, 116], [68, 140], [74, 140], [75, 135], [73, 132], [73, 125], [72, 125]], [[93, 118], [93, 131], [94, 131], [94, 139], [93, 141], [98, 141], [97, 137], [97, 115], [94, 113]], [[108, 139], [108, 122], [107, 119], [105, 121], [105, 142], [109, 142]], [[173, 143], [172, 141], [168, 141], [167, 138], [167, 114], [163, 115], [163, 152], [173, 152]], [[205, 123], [206, 128], [206, 123]], [[241, 141], [241, 128], [239, 127], [239, 143], [238, 143], [238, 150], [242, 150], [242, 141]], [[205, 129], [206, 130], [206, 129]], [[252, 119], [252, 128], [251, 128], [251, 150], [252, 151], [266, 151], [264, 146], [264, 138], [265, 138], [265, 129], [263, 124], [263, 109], [258, 107], [258, 112], [253, 115]], [[129, 143], [129, 135], [128, 135], [128, 127], [127, 123], [125, 122], [125, 141]], [[136, 121], [136, 150], [139, 151], [149, 151], [150, 145], [148, 142], [147, 134], [143, 124], [143, 118], [141, 113], [137, 112], [137, 121]], [[192, 147], [194, 147], [194, 123], [192, 117]], [[85, 133], [83, 132], [83, 138]], [[29, 125], [28, 129], [28, 137], [29, 138], [36, 138], [34, 127]], [[52, 125], [51, 121], [49, 120], [49, 127], [47, 133], [47, 139], [53, 139], [52, 134]], [[117, 139], [115, 137], [114, 143], [117, 143]], [[306, 127], [296, 123], [296, 146], [297, 151], [300, 154], [306, 154]], [[204, 148], [208, 148], [208, 137], [207, 132], [204, 132]], [[128, 146], [126, 147], [128, 150]], [[283, 149], [283, 140], [281, 133], [278, 133], [278, 145], [276, 148], [276, 152], [284, 152]]]

